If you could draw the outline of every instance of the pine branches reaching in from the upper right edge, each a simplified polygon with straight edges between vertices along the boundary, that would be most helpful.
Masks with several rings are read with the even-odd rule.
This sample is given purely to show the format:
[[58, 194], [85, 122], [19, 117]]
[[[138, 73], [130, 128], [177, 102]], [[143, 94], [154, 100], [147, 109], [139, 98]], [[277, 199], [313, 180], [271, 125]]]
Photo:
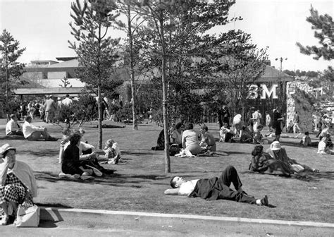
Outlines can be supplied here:
[[297, 46], [302, 54], [314, 54], [314, 59], [323, 57], [324, 60], [334, 59], [334, 38], [333, 38], [333, 18], [328, 14], [319, 15], [313, 6], [310, 9], [311, 16], [307, 17], [307, 22], [311, 23], [314, 30], [314, 37], [319, 39], [320, 47], [306, 46], [297, 42]]

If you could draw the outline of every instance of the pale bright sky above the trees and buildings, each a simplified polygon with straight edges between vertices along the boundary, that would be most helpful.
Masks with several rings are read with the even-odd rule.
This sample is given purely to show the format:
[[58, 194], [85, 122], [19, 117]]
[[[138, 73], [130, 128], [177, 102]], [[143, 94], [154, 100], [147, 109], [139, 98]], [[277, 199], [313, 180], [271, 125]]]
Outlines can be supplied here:
[[[70, 35], [71, 0], [0, 0], [0, 30], [6, 29], [26, 50], [18, 61], [54, 60], [75, 56], [68, 48]], [[252, 35], [259, 48], [268, 47], [271, 66], [295, 71], [323, 71], [333, 62], [318, 61], [299, 52], [296, 42], [318, 45], [314, 31], [306, 18], [311, 5], [319, 14], [333, 17], [333, 0], [237, 0], [229, 16], [243, 20], [212, 30], [218, 34], [226, 30], [243, 30]], [[120, 37], [116, 32], [115, 37]], [[278, 60], [276, 60], [278, 59]], [[285, 60], [286, 59], [286, 60]]]

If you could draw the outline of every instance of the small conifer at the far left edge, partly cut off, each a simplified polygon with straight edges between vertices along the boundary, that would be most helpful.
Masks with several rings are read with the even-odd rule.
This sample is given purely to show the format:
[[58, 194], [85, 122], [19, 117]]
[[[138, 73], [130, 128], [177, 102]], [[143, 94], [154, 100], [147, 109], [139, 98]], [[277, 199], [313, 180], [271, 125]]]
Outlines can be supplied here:
[[18, 85], [25, 84], [24, 80], [20, 80], [20, 75], [24, 73], [25, 65], [18, 63], [18, 58], [23, 54], [25, 48], [20, 49], [20, 42], [14, 39], [14, 37], [7, 30], [4, 30], [0, 35], [0, 51], [1, 51], [1, 94], [5, 95], [3, 101], [3, 108], [5, 108], [8, 114], [9, 99], [11, 96], [11, 90], [18, 87]]

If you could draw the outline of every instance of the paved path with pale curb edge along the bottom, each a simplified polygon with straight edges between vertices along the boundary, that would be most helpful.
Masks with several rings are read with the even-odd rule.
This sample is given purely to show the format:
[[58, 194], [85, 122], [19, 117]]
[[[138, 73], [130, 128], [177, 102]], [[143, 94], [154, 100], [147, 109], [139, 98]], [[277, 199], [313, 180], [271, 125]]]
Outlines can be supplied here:
[[334, 224], [148, 212], [42, 208], [39, 228], [1, 236], [333, 236]]

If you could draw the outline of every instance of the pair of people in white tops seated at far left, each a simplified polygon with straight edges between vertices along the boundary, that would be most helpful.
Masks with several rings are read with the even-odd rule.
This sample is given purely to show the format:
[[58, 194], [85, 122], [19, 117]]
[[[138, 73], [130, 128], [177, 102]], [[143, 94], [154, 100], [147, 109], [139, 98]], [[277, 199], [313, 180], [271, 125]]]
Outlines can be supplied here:
[[25, 116], [25, 123], [23, 123], [22, 128], [18, 123], [18, 116], [16, 114], [11, 114], [10, 118], [6, 123], [6, 135], [23, 136], [27, 140], [58, 140], [58, 138], [53, 138], [49, 135], [47, 128], [33, 125], [31, 116]]

